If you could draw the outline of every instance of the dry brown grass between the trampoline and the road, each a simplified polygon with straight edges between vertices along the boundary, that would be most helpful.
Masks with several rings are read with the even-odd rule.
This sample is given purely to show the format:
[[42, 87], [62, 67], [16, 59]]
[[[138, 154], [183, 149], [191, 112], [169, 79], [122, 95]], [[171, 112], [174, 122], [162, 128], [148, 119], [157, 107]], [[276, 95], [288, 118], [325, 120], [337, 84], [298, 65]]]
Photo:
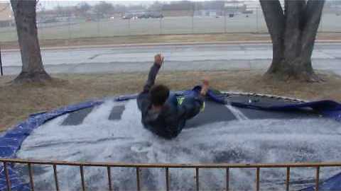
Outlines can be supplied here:
[[[322, 74], [325, 82], [264, 81], [263, 71], [173, 71], [161, 72], [158, 83], [173, 90], [187, 89], [210, 76], [213, 88], [224, 91], [269, 93], [306, 100], [341, 101], [341, 77]], [[126, 74], [58, 74], [49, 84], [11, 85], [13, 76], [0, 79], [0, 131], [26, 119], [29, 114], [51, 110], [92, 98], [137, 93], [146, 80], [146, 73]], [[63, 80], [61, 80], [63, 79]]]

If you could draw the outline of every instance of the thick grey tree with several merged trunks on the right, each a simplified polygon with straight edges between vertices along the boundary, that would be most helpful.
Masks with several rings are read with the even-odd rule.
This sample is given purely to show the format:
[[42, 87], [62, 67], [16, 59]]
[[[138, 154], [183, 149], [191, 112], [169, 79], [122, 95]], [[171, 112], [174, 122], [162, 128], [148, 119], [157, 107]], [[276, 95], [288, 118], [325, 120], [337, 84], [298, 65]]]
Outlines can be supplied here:
[[319, 81], [311, 55], [325, 0], [259, 0], [273, 43], [273, 60], [266, 76]]

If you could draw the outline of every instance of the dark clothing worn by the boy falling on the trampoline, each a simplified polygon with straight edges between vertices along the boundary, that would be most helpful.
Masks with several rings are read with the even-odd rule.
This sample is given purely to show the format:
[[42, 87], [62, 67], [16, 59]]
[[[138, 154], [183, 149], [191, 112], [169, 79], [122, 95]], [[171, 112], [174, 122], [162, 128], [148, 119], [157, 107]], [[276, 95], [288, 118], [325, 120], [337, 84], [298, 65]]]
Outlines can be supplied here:
[[193, 96], [186, 97], [179, 105], [175, 95], [171, 94], [160, 112], [151, 110], [149, 90], [154, 85], [159, 69], [158, 64], [153, 64], [151, 67], [144, 91], [137, 98], [137, 105], [141, 110], [142, 123], [146, 129], [165, 139], [172, 139], [180, 134], [186, 120], [200, 112], [203, 98], [195, 93]]

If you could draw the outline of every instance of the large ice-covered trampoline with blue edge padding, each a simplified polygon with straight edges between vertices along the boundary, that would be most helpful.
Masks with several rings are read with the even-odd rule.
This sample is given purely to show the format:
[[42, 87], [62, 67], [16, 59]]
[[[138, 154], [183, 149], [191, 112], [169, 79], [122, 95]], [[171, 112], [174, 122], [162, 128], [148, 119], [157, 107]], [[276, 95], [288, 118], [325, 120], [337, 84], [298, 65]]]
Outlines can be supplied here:
[[[191, 91], [195, 91], [194, 88]], [[175, 92], [185, 96], [190, 91]], [[248, 93], [210, 91], [205, 110], [170, 141], [141, 125], [136, 95], [93, 100], [31, 115], [0, 138], [1, 157], [123, 163], [299, 163], [340, 161], [340, 105]], [[101, 168], [85, 168], [88, 190], [106, 185]], [[36, 190], [54, 190], [53, 172], [33, 168]], [[60, 190], [80, 190], [78, 169], [62, 167]], [[341, 190], [341, 169], [320, 173], [320, 190]], [[143, 169], [143, 190], [164, 190], [160, 170]], [[194, 190], [193, 172], [171, 170], [171, 190]], [[220, 190], [220, 170], [200, 173], [200, 190]], [[28, 172], [10, 167], [12, 190], [29, 190]], [[114, 190], [136, 190], [134, 169], [112, 170]], [[266, 169], [261, 190], [284, 190], [285, 170]], [[292, 169], [291, 189], [312, 190], [313, 169]], [[231, 172], [232, 190], [252, 190], [254, 172]], [[0, 190], [6, 190], [1, 166]]]

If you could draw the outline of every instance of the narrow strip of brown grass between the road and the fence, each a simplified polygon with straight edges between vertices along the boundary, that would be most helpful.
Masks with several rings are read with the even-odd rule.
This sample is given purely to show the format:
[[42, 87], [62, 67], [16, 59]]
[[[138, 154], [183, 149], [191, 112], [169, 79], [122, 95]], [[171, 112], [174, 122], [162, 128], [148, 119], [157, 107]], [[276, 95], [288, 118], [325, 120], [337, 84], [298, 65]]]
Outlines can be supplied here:
[[[341, 42], [341, 33], [318, 33], [316, 42]], [[209, 33], [181, 35], [127, 35], [82, 37], [71, 39], [40, 39], [41, 50], [70, 50], [101, 47], [153, 47], [165, 45], [237, 45], [271, 43], [268, 33]], [[18, 42], [1, 42], [1, 50], [18, 51]]]

